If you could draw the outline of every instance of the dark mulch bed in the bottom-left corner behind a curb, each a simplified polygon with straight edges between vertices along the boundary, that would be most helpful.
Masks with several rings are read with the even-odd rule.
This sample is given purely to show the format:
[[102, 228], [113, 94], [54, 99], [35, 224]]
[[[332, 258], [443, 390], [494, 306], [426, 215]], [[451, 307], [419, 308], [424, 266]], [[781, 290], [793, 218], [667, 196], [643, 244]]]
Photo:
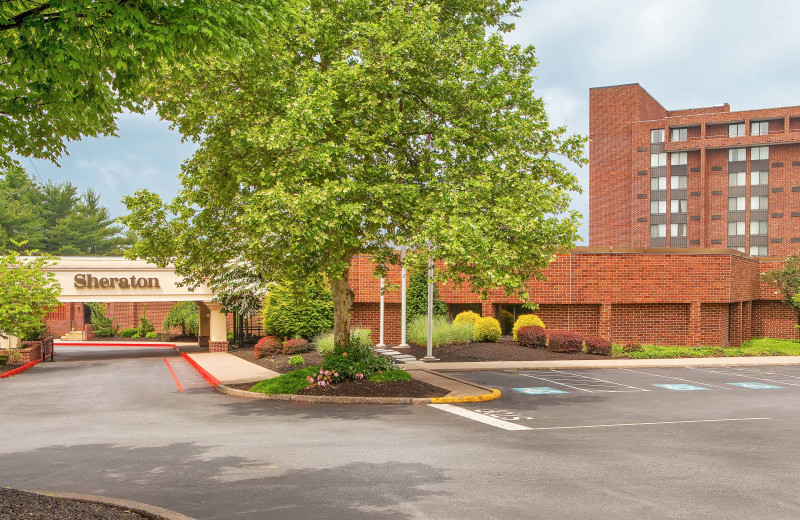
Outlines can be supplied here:
[[0, 488], [0, 519], [26, 518], [31, 520], [63, 520], [81, 518], [90, 520], [144, 520], [132, 511], [103, 504], [76, 502], [16, 489]]

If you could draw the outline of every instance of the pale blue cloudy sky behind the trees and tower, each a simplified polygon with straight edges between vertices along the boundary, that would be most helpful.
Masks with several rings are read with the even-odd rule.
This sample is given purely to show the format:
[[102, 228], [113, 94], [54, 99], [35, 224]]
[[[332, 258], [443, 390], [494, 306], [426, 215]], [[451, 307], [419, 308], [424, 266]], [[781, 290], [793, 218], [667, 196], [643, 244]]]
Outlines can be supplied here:
[[[534, 91], [553, 126], [589, 133], [589, 89], [639, 83], [667, 110], [729, 103], [731, 110], [800, 105], [800, 2], [796, 0], [530, 0], [511, 44], [533, 45]], [[122, 198], [147, 188], [171, 199], [181, 163], [196, 149], [150, 113], [126, 114], [119, 137], [70, 143], [60, 167], [23, 159], [37, 177], [92, 188], [112, 216]], [[588, 149], [586, 150], [588, 157]], [[588, 241], [589, 169], [569, 166], [582, 194]], [[580, 243], [578, 245], [581, 245]]]

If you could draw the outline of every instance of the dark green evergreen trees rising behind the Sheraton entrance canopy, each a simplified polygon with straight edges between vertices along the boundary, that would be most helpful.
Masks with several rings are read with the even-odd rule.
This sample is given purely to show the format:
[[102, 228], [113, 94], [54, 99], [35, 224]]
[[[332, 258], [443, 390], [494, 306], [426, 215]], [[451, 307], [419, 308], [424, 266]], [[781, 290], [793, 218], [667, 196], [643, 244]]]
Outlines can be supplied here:
[[39, 184], [19, 166], [0, 171], [0, 252], [25, 248], [57, 255], [121, 255], [135, 242], [114, 225], [91, 189]]

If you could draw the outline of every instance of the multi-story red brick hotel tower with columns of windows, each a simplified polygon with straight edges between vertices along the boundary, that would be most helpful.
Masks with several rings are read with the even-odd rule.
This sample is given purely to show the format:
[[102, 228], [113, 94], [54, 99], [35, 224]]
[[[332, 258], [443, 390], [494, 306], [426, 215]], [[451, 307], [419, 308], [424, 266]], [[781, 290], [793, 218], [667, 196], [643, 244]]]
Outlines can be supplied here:
[[667, 110], [640, 85], [589, 93], [589, 244], [800, 248], [800, 106]]

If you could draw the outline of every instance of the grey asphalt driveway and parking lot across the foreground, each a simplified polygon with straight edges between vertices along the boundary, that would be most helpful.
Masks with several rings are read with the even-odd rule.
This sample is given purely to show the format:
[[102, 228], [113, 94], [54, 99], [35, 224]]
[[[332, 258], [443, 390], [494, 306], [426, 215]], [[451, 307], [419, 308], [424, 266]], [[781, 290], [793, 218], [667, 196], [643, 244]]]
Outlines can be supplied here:
[[0, 485], [203, 519], [800, 515], [797, 368], [461, 373], [503, 397], [457, 415], [180, 391], [174, 351], [131, 356], [0, 381]]

